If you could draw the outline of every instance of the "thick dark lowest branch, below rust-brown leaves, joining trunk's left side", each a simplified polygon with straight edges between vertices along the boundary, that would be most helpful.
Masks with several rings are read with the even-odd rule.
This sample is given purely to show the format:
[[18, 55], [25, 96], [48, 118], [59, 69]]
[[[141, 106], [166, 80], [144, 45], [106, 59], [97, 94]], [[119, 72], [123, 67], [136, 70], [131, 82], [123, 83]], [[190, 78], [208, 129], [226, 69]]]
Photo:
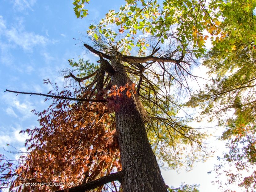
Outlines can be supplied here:
[[[119, 181], [121, 182], [122, 180], [123, 173], [122, 171], [116, 172], [116, 173], [111, 173], [109, 175], [106, 175], [104, 177], [101, 177], [95, 181], [88, 182], [79, 186], [71, 187], [69, 188], [69, 192], [85, 192], [87, 190], [92, 190], [95, 189], [99, 186], [102, 186], [106, 183], [112, 182], [112, 181]], [[59, 190], [55, 192], [65, 192], [65, 190]]]

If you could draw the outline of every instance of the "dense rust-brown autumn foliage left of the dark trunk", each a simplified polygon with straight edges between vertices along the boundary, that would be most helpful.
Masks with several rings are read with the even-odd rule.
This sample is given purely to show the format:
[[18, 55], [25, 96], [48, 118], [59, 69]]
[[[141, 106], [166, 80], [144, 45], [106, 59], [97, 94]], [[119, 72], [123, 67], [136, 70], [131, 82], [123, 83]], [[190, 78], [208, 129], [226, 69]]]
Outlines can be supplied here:
[[[76, 90], [64, 90], [59, 95], [71, 97], [74, 93]], [[93, 97], [92, 94], [85, 91], [77, 93], [77, 97]], [[31, 136], [25, 143], [27, 156], [19, 157], [19, 166], [15, 167], [10, 162], [1, 166], [2, 173], [10, 170], [3, 177], [5, 183], [9, 182], [10, 190], [18, 186], [18, 191], [55, 191], [62, 188], [58, 183], [77, 186], [107, 175], [114, 169], [121, 170], [120, 152], [114, 138], [115, 120], [106, 103], [54, 98], [48, 109], [32, 112], [39, 117], [40, 128], [21, 131]], [[37, 183], [37, 186], [20, 185], [26, 183], [20, 178], [35, 178], [32, 183]], [[56, 185], [38, 185], [47, 182]], [[68, 187], [71, 186], [64, 185], [64, 188]], [[95, 191], [101, 190], [99, 187]]]

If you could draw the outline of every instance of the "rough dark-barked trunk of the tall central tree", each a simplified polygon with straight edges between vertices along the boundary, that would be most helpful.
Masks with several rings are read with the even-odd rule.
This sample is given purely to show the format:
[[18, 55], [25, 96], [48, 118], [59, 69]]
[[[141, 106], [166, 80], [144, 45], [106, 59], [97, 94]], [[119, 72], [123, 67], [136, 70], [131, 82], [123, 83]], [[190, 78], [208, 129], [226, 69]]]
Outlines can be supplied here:
[[[128, 77], [117, 58], [111, 60], [115, 74], [113, 85], [128, 83]], [[147, 138], [145, 124], [136, 106], [134, 95], [120, 98], [120, 109], [115, 113], [118, 142], [123, 169], [124, 192], [167, 192], [156, 157]]]

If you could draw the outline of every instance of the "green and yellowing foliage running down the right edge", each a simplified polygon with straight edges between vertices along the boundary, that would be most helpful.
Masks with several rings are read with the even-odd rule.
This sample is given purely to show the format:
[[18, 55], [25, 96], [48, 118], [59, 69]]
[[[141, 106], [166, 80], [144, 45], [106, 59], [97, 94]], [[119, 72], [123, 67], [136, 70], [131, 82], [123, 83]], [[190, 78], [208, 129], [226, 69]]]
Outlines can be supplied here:
[[[212, 119], [217, 118], [226, 127], [220, 139], [226, 141], [229, 152], [223, 160], [234, 165], [237, 172], [218, 171], [230, 178], [227, 184], [238, 183], [250, 191], [256, 184], [251, 172], [256, 165], [256, 1], [216, 0], [209, 6], [223, 18], [220, 34], [212, 37], [213, 48], [203, 64], [215, 77], [187, 104], [201, 105], [203, 114], [212, 114]], [[241, 170], [251, 175], [245, 177]]]

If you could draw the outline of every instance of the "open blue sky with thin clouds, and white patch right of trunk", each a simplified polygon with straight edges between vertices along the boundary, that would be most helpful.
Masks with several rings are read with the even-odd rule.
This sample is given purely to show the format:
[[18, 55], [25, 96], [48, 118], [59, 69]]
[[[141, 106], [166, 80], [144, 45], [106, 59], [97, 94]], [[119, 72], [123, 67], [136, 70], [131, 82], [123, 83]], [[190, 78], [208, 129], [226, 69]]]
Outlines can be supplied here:
[[[81, 56], [93, 62], [98, 60], [83, 48], [79, 40], [86, 41], [83, 35], [89, 24], [101, 19], [109, 9], [117, 10], [122, 3], [120, 0], [92, 0], [87, 6], [88, 17], [76, 19], [70, 0], [1, 0], [0, 153], [4, 152], [6, 143], [24, 150], [27, 136], [20, 135], [19, 131], [38, 125], [37, 117], [30, 111], [41, 111], [50, 104], [49, 101], [44, 102], [44, 97], [16, 96], [4, 93], [4, 90], [47, 93], [52, 88], [43, 84], [46, 78], [64, 86], [64, 78], [59, 72], [70, 68], [68, 59], [78, 60]], [[13, 150], [10, 146], [4, 148]], [[221, 153], [219, 150], [216, 155]], [[189, 173], [183, 169], [179, 173], [162, 170], [166, 184], [175, 187], [182, 182], [200, 184], [201, 192], [218, 191], [218, 186], [211, 183], [215, 175], [207, 174], [216, 163], [216, 155], [206, 163], [196, 164]]]

